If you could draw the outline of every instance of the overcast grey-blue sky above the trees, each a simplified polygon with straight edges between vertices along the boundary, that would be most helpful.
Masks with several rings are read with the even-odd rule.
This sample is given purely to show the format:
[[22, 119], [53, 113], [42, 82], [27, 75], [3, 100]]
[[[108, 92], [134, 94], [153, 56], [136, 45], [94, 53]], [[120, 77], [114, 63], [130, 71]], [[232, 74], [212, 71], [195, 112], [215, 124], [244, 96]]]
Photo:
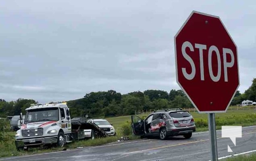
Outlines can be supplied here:
[[238, 47], [243, 93], [256, 77], [256, 1], [4, 0], [0, 98], [180, 89], [173, 37], [192, 10], [221, 17]]

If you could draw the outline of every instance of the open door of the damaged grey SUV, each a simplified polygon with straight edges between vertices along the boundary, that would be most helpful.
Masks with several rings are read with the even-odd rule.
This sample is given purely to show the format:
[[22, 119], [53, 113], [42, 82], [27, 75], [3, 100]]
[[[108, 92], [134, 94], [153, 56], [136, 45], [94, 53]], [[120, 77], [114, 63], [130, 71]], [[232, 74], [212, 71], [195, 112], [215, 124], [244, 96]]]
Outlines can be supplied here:
[[134, 135], [144, 135], [144, 122], [138, 116], [131, 116], [131, 128]]

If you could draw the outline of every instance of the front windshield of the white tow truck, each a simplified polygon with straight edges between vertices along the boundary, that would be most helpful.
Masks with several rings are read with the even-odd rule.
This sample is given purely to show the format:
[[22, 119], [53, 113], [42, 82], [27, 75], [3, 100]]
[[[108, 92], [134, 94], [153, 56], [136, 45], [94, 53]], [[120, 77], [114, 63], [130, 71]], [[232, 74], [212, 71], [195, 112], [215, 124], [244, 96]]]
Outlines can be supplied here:
[[31, 122], [58, 121], [58, 120], [59, 120], [58, 108], [48, 107], [48, 108], [28, 110], [24, 123], [27, 124]]

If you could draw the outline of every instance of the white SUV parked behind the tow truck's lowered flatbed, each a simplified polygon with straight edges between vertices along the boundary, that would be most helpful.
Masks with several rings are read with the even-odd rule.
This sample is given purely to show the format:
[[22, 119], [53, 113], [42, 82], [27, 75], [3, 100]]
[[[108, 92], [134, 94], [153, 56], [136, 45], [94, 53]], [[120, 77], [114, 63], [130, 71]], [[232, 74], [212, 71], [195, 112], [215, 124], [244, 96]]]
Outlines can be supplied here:
[[104, 119], [93, 119], [90, 120], [97, 126], [99, 126], [102, 130], [104, 130], [108, 135], [116, 135], [114, 130], [114, 126], [108, 122], [108, 120]]

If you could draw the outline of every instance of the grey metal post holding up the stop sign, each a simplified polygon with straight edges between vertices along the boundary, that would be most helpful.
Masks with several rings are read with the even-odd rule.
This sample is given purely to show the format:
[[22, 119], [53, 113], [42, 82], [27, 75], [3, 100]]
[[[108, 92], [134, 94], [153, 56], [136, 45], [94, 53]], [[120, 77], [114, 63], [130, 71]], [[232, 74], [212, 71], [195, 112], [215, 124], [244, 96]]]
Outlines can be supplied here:
[[217, 138], [216, 138], [216, 126], [215, 126], [215, 114], [208, 114], [208, 127], [210, 133], [210, 143], [211, 143], [211, 161], [218, 161], [218, 151], [217, 151]]

